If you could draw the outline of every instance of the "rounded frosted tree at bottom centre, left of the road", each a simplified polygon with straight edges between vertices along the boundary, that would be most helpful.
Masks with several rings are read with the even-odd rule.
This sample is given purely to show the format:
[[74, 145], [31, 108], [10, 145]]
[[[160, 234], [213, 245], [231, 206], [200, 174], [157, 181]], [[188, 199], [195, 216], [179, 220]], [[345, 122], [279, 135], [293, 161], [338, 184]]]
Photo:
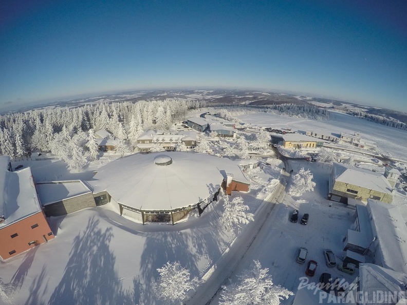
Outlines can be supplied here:
[[182, 301], [187, 292], [195, 290], [199, 283], [197, 278], [191, 279], [189, 270], [183, 268], [179, 262], [167, 262], [157, 271], [160, 276], [153, 285], [154, 292], [159, 299], [170, 304]]

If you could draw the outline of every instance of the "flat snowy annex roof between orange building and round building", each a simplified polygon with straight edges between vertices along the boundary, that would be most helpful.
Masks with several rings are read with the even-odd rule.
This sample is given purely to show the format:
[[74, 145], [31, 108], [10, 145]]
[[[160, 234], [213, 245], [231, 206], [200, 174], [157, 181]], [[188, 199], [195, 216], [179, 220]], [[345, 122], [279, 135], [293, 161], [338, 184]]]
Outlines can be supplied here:
[[91, 193], [80, 180], [38, 182], [35, 187], [42, 205]]

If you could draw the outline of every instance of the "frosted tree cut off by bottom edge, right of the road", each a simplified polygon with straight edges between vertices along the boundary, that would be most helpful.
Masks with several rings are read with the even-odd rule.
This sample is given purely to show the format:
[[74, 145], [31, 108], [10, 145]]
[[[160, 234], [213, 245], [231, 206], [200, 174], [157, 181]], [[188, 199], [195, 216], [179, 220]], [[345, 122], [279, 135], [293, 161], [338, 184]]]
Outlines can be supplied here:
[[262, 268], [259, 261], [254, 260], [251, 268], [237, 276], [237, 282], [222, 287], [220, 294], [221, 305], [279, 305], [283, 299], [293, 293], [274, 285], [268, 268]]

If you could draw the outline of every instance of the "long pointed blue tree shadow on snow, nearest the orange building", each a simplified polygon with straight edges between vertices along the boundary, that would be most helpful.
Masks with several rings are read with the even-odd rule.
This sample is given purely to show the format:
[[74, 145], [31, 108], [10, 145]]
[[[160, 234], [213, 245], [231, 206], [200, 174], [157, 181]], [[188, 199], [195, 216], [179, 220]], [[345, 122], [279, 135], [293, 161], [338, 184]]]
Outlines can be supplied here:
[[124, 291], [115, 270], [116, 256], [109, 248], [112, 227], [98, 227], [89, 219], [73, 240], [64, 275], [49, 304], [134, 304], [133, 292]]

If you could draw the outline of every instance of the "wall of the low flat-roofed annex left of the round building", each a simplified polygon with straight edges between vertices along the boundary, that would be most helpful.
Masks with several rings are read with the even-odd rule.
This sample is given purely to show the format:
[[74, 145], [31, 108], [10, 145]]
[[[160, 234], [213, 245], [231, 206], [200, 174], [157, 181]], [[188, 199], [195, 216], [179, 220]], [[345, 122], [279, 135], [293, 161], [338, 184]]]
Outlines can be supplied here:
[[44, 206], [44, 211], [47, 216], [61, 216], [94, 206], [96, 206], [94, 196], [92, 193], [88, 193], [48, 204]]

